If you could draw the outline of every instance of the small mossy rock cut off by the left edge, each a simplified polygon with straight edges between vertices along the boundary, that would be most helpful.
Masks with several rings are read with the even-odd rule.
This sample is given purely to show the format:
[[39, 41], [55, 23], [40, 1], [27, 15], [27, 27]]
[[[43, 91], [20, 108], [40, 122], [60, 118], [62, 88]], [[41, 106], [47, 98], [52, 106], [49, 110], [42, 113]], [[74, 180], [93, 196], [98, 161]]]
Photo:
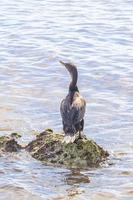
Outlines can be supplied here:
[[21, 149], [21, 146], [15, 140], [16, 137], [13, 134], [10, 136], [0, 136], [0, 153], [1, 152], [17, 152]]

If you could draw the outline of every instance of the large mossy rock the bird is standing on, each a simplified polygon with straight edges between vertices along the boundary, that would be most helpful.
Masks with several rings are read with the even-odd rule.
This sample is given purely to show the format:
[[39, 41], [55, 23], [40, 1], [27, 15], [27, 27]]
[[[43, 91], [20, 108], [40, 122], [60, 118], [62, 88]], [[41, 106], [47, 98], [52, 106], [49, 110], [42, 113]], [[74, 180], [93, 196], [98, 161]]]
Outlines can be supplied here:
[[64, 135], [55, 134], [51, 129], [36, 136], [26, 150], [35, 159], [48, 165], [72, 168], [97, 167], [109, 156], [108, 152], [93, 140], [76, 139], [74, 143], [62, 143]]

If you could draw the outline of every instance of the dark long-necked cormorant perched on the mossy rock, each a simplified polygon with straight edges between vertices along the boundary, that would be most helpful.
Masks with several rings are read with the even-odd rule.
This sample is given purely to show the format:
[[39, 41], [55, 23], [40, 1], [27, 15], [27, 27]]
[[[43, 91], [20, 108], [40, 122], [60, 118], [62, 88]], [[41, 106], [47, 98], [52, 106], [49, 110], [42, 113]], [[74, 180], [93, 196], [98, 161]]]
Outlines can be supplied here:
[[77, 67], [71, 63], [64, 63], [62, 61], [60, 63], [66, 67], [72, 78], [68, 95], [62, 100], [60, 105], [63, 130], [65, 133], [63, 142], [73, 143], [76, 133], [79, 133], [79, 138], [82, 138], [86, 101], [80, 95], [77, 87]]

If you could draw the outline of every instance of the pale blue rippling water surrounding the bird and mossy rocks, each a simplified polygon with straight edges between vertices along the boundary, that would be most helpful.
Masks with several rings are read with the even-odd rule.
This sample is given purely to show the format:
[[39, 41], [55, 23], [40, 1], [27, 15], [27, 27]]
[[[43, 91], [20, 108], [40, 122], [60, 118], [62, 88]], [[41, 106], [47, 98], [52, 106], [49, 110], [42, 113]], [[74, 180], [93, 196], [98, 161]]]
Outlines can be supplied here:
[[59, 104], [78, 66], [85, 133], [111, 165], [88, 171], [45, 166], [27, 153], [0, 157], [0, 200], [133, 199], [133, 2], [0, 1], [0, 135], [61, 131]]

